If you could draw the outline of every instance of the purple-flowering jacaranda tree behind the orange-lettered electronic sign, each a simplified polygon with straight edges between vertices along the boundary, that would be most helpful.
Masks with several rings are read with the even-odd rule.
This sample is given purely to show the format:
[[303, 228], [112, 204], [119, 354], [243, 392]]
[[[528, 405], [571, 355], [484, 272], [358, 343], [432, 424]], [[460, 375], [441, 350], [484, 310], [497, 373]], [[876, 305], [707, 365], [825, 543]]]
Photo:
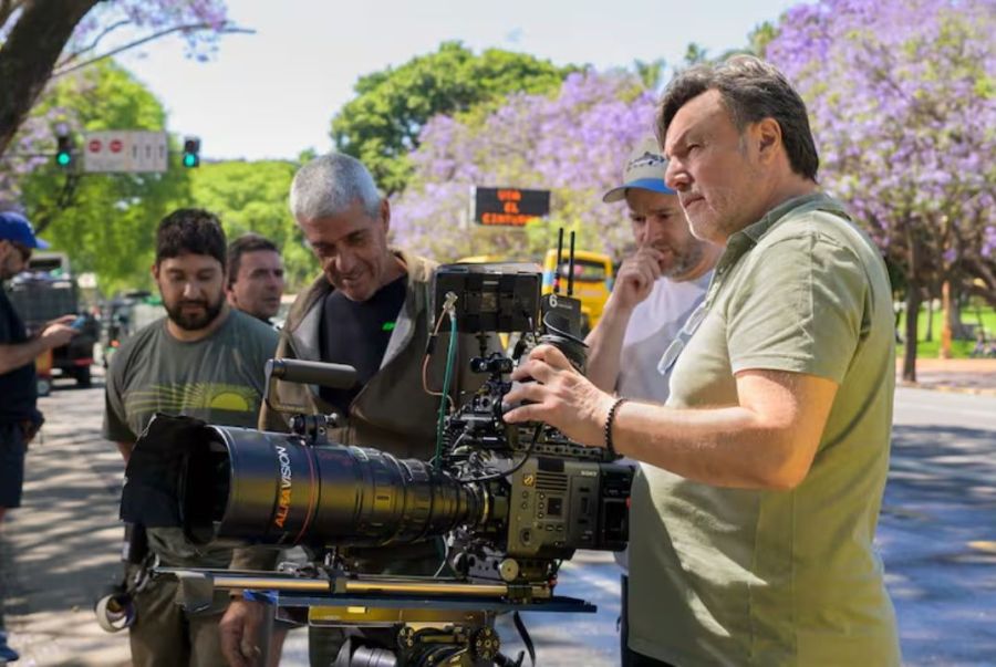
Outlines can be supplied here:
[[[578, 248], [620, 257], [632, 235], [620, 205], [602, 202], [622, 164], [653, 134], [654, 95], [627, 72], [574, 73], [553, 95], [515, 94], [492, 112], [436, 116], [412, 156], [414, 177], [393, 200], [394, 238], [437, 260], [537, 257], [556, 230]], [[473, 186], [549, 189], [549, 220], [523, 230], [468, 220]]]

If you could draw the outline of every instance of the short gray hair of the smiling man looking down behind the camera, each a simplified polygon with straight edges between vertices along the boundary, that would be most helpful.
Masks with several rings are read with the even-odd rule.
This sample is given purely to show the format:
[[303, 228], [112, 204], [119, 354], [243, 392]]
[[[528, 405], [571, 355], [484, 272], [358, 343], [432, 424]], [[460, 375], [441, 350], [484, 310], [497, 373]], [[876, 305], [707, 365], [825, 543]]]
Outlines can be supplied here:
[[356, 201], [369, 216], [380, 213], [381, 194], [370, 171], [342, 153], [314, 158], [298, 170], [291, 184], [290, 209], [295, 220], [328, 218]]

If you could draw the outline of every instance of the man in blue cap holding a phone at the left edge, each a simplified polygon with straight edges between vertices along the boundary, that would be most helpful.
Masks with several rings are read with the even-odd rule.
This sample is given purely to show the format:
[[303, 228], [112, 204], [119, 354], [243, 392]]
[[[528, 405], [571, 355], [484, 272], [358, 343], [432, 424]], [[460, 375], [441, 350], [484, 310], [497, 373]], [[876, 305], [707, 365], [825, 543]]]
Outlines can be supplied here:
[[[0, 212], [0, 282], [24, 270], [31, 252], [49, 244], [34, 236], [24, 216]], [[8, 508], [21, 504], [24, 454], [41, 426], [35, 407], [34, 359], [46, 350], [69, 343], [76, 332], [69, 326], [73, 315], [50, 322], [40, 335], [29, 337], [24, 323], [0, 289], [0, 531]], [[18, 659], [7, 645], [3, 629], [3, 591], [0, 582], [0, 663]]]

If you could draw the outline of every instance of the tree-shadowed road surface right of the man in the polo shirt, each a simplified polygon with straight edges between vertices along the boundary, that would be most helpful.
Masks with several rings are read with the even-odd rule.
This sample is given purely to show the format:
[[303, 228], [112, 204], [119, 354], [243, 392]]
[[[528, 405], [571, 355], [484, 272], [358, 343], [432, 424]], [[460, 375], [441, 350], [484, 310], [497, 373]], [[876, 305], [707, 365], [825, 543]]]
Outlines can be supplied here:
[[996, 397], [901, 388], [878, 543], [910, 665], [996, 665]]

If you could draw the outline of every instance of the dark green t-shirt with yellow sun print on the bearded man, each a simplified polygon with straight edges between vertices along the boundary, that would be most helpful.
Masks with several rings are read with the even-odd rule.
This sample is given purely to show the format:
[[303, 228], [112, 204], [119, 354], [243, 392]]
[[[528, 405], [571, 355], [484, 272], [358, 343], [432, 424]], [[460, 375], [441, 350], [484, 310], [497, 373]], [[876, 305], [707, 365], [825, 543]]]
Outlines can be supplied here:
[[[270, 326], [237, 310], [218, 331], [193, 343], [174, 338], [165, 319], [153, 322], [112, 357], [104, 437], [134, 442], [156, 413], [256, 428], [266, 363], [277, 341]], [[231, 557], [227, 549], [194, 549], [180, 529], [151, 529], [149, 542], [169, 565], [222, 566]]]

